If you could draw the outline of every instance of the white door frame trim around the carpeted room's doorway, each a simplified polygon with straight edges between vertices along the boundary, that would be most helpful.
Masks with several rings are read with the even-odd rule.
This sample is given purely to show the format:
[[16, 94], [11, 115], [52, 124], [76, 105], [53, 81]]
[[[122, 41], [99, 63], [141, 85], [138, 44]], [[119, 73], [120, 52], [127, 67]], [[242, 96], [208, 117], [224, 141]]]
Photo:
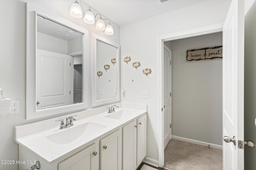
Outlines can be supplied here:
[[162, 168], [164, 166], [164, 116], [162, 114], [162, 107], [164, 106], [164, 42], [221, 32], [223, 25], [224, 23], [218, 23], [206, 27], [158, 36], [158, 167]]

